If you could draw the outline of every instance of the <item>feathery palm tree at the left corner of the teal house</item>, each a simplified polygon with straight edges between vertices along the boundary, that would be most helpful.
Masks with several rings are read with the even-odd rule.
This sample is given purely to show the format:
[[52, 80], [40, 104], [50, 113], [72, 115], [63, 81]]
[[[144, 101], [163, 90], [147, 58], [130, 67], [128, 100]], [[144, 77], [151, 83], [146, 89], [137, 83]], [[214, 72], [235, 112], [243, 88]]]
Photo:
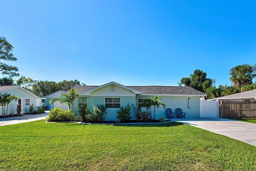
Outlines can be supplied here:
[[78, 97], [79, 93], [76, 93], [77, 89], [70, 89], [69, 93], [62, 93], [60, 97], [56, 97], [53, 99], [50, 99], [50, 104], [54, 103], [54, 101], [59, 101], [60, 103], [67, 103], [68, 109], [70, 109], [70, 105], [72, 105], [73, 109], [73, 103]]

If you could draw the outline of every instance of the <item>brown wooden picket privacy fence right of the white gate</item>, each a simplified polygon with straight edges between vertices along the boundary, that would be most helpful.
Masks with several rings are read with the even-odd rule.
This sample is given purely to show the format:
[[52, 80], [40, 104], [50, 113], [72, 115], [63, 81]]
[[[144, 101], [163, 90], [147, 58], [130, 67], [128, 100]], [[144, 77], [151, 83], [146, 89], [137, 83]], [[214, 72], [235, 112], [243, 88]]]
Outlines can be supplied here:
[[221, 118], [253, 119], [256, 118], [256, 101], [219, 101]]

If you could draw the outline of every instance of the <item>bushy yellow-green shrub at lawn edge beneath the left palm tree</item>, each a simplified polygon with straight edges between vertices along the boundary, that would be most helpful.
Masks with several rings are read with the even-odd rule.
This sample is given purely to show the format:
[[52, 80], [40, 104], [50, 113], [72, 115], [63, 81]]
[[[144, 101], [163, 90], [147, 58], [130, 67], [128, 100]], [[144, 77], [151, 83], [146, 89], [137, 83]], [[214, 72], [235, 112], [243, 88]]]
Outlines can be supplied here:
[[48, 114], [47, 121], [54, 122], [54, 121], [72, 121], [74, 119], [74, 111], [70, 110], [63, 110], [59, 107], [50, 110]]

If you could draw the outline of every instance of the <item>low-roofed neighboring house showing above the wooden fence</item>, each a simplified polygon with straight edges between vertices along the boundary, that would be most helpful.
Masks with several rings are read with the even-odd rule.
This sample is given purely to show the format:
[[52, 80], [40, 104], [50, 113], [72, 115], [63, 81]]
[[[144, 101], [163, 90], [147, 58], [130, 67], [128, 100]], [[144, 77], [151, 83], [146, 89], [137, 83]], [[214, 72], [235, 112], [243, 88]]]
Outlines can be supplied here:
[[244, 91], [242, 93], [217, 97], [209, 100], [253, 101], [256, 100], [256, 89]]

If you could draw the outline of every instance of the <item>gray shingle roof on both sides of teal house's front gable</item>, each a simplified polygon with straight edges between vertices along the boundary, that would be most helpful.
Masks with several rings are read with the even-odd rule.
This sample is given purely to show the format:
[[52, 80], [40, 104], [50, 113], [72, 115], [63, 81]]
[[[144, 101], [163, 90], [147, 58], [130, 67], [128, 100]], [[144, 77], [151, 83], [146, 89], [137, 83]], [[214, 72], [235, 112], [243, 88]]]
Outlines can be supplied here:
[[[98, 86], [90, 86], [85, 85], [81, 86], [78, 85], [74, 87], [77, 89], [78, 93], [83, 93], [84, 91], [87, 91], [89, 89], [95, 88]], [[168, 94], [168, 95], [201, 95], [206, 96], [205, 93], [202, 93], [201, 91], [198, 91], [194, 88], [188, 87], [188, 86], [127, 86], [132, 89], [136, 89], [138, 91], [141, 91], [142, 94]]]

